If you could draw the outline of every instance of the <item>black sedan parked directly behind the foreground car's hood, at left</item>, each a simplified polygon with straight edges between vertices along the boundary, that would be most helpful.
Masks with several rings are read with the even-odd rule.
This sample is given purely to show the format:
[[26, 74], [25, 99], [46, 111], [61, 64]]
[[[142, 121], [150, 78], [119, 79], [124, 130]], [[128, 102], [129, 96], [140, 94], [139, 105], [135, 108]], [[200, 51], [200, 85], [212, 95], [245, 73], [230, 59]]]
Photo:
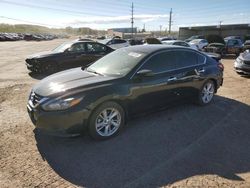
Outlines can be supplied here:
[[53, 73], [68, 68], [86, 67], [112, 51], [112, 48], [97, 42], [66, 42], [52, 51], [31, 55], [26, 59], [26, 65], [32, 72]]

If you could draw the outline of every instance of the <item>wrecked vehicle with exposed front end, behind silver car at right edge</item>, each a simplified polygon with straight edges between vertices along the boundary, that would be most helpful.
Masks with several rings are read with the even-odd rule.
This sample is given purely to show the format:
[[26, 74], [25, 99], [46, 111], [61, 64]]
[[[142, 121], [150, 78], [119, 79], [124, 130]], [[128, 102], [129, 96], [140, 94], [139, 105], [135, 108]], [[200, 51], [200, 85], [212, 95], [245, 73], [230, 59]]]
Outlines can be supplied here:
[[243, 43], [240, 39], [228, 39], [225, 40], [224, 54], [235, 54], [239, 56], [243, 50]]

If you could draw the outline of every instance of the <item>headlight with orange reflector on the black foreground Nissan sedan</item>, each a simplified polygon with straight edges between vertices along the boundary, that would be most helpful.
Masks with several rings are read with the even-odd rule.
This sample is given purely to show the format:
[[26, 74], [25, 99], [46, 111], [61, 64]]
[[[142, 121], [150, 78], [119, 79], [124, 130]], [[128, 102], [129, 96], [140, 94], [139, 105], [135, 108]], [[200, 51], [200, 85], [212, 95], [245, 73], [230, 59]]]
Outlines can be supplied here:
[[56, 99], [43, 104], [42, 108], [46, 111], [66, 110], [80, 103], [82, 99], [83, 98], [73, 98], [73, 97], [67, 99]]

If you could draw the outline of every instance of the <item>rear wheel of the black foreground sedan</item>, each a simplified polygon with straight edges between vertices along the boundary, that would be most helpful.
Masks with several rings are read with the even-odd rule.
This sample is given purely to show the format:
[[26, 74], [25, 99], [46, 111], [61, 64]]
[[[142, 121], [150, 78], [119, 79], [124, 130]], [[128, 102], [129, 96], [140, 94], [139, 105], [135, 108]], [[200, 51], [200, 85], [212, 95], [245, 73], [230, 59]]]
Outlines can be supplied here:
[[212, 80], [205, 82], [198, 94], [198, 104], [204, 106], [211, 103], [215, 90], [215, 84]]

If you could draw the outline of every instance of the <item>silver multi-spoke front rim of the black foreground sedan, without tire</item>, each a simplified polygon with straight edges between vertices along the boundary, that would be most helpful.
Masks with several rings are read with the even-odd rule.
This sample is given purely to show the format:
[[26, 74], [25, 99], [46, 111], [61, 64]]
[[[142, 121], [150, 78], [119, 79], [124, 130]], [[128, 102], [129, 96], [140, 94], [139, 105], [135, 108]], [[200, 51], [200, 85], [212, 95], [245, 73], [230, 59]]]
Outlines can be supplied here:
[[96, 118], [95, 128], [101, 136], [113, 135], [121, 125], [121, 114], [115, 108], [104, 109]]

